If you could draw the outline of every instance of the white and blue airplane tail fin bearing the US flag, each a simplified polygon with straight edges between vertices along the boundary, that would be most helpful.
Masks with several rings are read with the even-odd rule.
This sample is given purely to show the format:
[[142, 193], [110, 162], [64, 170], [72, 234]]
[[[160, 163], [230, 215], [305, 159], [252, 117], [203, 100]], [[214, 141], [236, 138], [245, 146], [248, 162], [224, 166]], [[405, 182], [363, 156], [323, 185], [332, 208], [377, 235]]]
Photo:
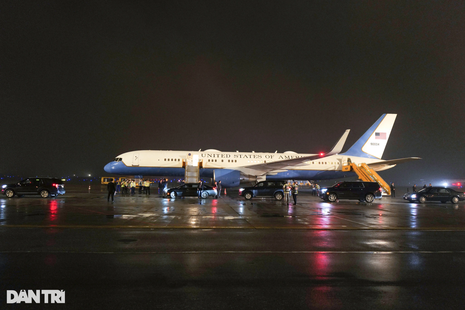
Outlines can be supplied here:
[[342, 155], [381, 159], [396, 116], [397, 114], [381, 115], [370, 129]]

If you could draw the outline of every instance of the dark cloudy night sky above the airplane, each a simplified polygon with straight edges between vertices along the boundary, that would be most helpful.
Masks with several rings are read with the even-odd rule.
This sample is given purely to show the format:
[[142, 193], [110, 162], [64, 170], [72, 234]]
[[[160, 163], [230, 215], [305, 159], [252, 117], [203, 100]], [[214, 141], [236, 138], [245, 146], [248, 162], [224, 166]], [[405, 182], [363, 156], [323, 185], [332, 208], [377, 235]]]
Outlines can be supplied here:
[[135, 150], [348, 149], [397, 113], [386, 180], [465, 178], [463, 1], [8, 1], [0, 174]]

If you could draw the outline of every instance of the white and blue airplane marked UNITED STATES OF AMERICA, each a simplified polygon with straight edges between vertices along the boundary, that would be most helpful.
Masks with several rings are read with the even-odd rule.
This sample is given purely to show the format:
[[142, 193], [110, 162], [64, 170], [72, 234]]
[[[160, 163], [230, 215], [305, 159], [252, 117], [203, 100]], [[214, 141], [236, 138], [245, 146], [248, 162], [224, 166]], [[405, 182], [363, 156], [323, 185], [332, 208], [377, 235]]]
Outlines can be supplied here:
[[[184, 177], [187, 160], [199, 163], [199, 178], [221, 180], [222, 187], [236, 187], [263, 180], [329, 180], [352, 177], [342, 171], [347, 162], [365, 163], [374, 171], [390, 169], [418, 157], [382, 160], [397, 114], [383, 114], [346, 152], [340, 153], [350, 130], [331, 151], [319, 154], [296, 152], [133, 151], [116, 157], [104, 170], [117, 175]], [[340, 153], [340, 154], [339, 154]], [[197, 163], [195, 163], [197, 165]]]

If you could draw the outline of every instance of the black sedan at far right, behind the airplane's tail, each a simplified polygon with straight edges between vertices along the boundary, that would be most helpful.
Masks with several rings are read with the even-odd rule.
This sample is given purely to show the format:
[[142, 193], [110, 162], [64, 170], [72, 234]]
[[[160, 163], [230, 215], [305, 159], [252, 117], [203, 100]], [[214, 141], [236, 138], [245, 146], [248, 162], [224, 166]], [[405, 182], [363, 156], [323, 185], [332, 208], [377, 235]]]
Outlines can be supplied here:
[[442, 203], [450, 201], [452, 204], [457, 204], [459, 201], [465, 200], [465, 193], [454, 191], [449, 187], [431, 187], [405, 194], [404, 199], [410, 202], [417, 200], [420, 204], [424, 204], [426, 201], [440, 201]]

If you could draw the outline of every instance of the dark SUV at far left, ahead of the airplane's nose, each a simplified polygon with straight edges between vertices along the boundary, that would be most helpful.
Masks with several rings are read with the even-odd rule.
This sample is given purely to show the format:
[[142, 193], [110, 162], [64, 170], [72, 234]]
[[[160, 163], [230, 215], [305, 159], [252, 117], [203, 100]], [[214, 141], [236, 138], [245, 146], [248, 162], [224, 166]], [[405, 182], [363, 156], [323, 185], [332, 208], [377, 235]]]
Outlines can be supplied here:
[[14, 195], [40, 195], [48, 198], [63, 195], [65, 185], [59, 178], [27, 178], [16, 184], [2, 185], [1, 193], [8, 198], [13, 198]]

